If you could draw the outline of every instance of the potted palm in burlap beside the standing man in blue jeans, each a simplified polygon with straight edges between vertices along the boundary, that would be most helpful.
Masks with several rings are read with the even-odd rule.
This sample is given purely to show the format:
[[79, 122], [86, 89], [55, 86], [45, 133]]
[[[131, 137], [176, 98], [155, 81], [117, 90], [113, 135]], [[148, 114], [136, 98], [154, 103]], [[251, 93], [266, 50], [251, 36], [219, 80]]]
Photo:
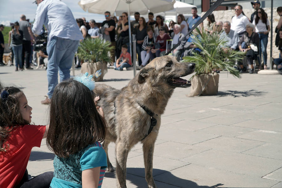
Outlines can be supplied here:
[[86, 38], [81, 41], [77, 49], [77, 56], [84, 62], [81, 65], [81, 73], [88, 72], [91, 75], [101, 69], [101, 76], [98, 78], [94, 76], [93, 79], [103, 81], [107, 73], [107, 62], [110, 61], [110, 51], [114, 48], [110, 45], [111, 42], [101, 38]]

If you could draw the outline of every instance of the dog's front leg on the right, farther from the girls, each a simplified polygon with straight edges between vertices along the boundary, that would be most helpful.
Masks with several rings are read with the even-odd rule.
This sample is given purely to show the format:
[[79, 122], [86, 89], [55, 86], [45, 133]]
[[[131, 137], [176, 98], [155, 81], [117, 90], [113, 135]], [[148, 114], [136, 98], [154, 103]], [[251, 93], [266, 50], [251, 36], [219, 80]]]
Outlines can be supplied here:
[[157, 133], [151, 132], [143, 142], [145, 178], [149, 188], [157, 188], [153, 179], [153, 154]]

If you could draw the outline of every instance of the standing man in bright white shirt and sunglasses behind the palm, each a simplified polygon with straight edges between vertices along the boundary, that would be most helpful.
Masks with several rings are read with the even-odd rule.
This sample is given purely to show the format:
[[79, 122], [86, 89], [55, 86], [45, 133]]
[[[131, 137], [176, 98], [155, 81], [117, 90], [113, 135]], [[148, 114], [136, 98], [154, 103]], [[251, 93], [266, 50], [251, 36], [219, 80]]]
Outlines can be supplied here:
[[241, 38], [246, 32], [246, 25], [250, 23], [249, 18], [243, 15], [243, 7], [241, 5], [235, 6], [235, 16], [232, 18], [231, 29], [236, 31]]

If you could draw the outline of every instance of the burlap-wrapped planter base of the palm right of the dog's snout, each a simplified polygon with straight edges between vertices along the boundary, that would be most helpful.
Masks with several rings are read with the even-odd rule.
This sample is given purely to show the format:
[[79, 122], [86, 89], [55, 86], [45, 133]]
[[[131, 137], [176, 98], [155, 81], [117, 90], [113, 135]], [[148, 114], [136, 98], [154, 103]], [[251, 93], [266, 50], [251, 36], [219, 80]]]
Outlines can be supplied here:
[[219, 74], [201, 74], [191, 80], [191, 91], [187, 97], [200, 95], [216, 95], [218, 91]]

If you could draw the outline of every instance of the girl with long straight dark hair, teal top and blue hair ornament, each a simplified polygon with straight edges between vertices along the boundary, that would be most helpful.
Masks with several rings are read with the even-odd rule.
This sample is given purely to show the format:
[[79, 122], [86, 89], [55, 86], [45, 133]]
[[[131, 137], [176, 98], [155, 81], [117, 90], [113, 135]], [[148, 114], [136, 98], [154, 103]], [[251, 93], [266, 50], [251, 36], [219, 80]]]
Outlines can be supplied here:
[[55, 153], [52, 188], [102, 185], [107, 156], [98, 141], [105, 138], [106, 123], [87, 75], [60, 82], [51, 99], [47, 146]]

